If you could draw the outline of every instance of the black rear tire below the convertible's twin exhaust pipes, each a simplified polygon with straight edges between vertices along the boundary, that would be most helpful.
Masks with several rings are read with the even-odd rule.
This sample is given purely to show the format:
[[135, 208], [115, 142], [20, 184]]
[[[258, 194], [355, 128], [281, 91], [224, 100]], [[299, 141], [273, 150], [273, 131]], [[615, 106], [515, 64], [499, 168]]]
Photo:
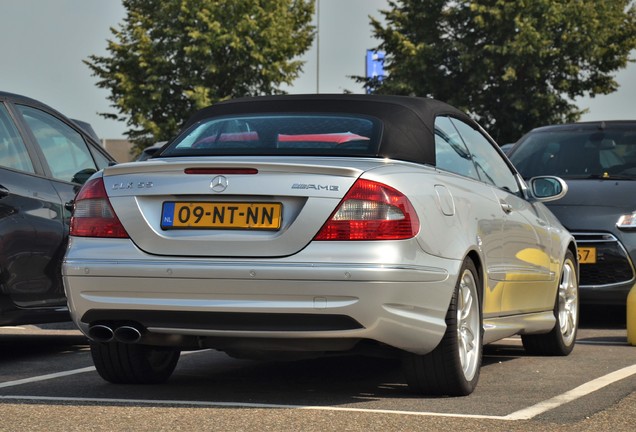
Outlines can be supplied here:
[[114, 384], [158, 384], [172, 375], [180, 351], [121, 342], [91, 342], [95, 369]]

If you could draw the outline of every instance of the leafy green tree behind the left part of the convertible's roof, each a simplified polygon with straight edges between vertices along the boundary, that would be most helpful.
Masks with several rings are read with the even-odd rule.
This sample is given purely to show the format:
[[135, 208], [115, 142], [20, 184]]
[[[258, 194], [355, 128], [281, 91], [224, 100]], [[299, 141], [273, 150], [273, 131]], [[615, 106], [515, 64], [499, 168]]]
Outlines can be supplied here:
[[216, 102], [282, 93], [302, 71], [313, 0], [122, 0], [110, 56], [85, 63], [110, 91], [139, 152], [172, 138], [194, 111]]

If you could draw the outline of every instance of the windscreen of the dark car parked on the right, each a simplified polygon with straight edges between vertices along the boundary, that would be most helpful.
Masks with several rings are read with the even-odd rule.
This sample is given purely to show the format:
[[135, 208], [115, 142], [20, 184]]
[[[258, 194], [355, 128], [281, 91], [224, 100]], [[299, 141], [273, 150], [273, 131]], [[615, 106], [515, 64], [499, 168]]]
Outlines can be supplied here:
[[509, 157], [526, 179], [636, 178], [636, 125], [530, 132]]

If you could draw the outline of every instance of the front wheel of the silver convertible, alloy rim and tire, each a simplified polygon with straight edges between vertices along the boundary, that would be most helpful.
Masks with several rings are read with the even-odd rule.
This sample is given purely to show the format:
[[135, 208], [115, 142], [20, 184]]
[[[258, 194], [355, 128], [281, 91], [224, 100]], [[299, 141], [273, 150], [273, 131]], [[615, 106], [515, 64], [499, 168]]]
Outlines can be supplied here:
[[579, 282], [572, 252], [565, 254], [554, 304], [554, 328], [545, 334], [522, 335], [526, 352], [531, 355], [566, 356], [576, 344], [579, 328]]

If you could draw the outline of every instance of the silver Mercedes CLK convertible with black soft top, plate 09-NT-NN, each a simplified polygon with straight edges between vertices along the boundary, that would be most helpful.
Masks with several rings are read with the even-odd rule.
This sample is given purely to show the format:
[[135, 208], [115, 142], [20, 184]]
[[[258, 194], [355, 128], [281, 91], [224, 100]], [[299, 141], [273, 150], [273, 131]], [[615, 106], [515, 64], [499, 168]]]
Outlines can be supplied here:
[[82, 187], [64, 284], [113, 383], [162, 382], [182, 350], [353, 351], [399, 356], [416, 392], [467, 395], [484, 344], [574, 347], [576, 244], [542, 203], [566, 191], [526, 185], [436, 100], [238, 99]]

